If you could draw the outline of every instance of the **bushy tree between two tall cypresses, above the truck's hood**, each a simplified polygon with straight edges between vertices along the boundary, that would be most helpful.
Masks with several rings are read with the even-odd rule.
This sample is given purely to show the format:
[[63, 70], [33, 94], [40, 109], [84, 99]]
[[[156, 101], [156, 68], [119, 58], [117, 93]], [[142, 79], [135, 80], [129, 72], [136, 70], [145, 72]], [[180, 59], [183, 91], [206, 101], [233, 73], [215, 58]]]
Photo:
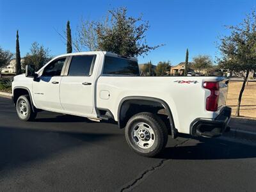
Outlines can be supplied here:
[[35, 65], [36, 70], [43, 67], [45, 63], [51, 60], [49, 49], [37, 42], [31, 44], [30, 52], [24, 58], [24, 65]]

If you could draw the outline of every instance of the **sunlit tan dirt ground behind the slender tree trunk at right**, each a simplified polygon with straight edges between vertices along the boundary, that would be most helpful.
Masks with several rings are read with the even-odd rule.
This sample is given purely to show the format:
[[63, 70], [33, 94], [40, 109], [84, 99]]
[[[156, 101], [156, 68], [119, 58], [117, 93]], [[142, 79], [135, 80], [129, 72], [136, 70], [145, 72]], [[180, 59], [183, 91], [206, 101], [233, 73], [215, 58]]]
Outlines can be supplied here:
[[[228, 85], [227, 106], [232, 108], [232, 115], [236, 114], [237, 100], [242, 84], [243, 82], [230, 81]], [[256, 82], [249, 82], [244, 88], [240, 115], [256, 118]]]

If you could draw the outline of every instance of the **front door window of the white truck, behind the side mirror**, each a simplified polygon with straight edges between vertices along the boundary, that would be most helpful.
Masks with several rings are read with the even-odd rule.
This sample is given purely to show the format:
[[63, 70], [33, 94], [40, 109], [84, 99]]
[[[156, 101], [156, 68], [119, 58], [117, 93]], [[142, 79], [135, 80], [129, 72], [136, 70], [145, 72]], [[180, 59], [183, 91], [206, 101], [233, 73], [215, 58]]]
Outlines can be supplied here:
[[42, 76], [60, 76], [65, 60], [66, 58], [60, 58], [58, 60], [52, 61], [44, 68]]

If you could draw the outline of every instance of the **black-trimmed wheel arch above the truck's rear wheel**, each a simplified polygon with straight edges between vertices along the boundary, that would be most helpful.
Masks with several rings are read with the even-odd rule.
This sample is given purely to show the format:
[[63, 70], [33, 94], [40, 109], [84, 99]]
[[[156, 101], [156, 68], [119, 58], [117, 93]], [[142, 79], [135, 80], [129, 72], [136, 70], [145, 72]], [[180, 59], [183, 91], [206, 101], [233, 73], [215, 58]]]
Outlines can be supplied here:
[[[156, 108], [160, 107], [160, 105], [161, 105], [165, 109], [166, 115], [168, 115], [170, 129], [172, 132], [172, 138], [175, 138], [177, 136], [177, 129], [175, 129], [175, 124], [173, 121], [172, 111], [171, 111], [170, 107], [164, 100], [158, 99], [155, 97], [144, 97], [144, 96], [124, 97], [118, 105], [117, 118], [118, 118], [118, 127], [120, 129], [125, 127], [125, 125], [127, 123], [127, 119], [124, 118], [125, 113], [129, 110], [129, 107], [131, 106], [131, 104], [134, 104], [134, 102], [139, 102], [141, 105], [143, 104], [143, 102], [146, 105], [147, 105], [147, 103], [150, 105], [153, 104], [153, 106], [156, 106]], [[141, 112], [143, 112], [143, 111], [141, 111]]]

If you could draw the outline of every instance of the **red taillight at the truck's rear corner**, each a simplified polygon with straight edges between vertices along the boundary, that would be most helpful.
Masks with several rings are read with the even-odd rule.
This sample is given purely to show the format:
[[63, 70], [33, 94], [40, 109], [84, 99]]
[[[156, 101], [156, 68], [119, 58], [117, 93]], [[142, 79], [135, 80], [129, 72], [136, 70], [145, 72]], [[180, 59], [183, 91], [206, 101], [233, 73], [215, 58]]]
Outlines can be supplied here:
[[207, 111], [217, 111], [220, 95], [219, 82], [205, 82], [204, 88], [211, 91], [211, 95], [206, 98], [205, 109]]

